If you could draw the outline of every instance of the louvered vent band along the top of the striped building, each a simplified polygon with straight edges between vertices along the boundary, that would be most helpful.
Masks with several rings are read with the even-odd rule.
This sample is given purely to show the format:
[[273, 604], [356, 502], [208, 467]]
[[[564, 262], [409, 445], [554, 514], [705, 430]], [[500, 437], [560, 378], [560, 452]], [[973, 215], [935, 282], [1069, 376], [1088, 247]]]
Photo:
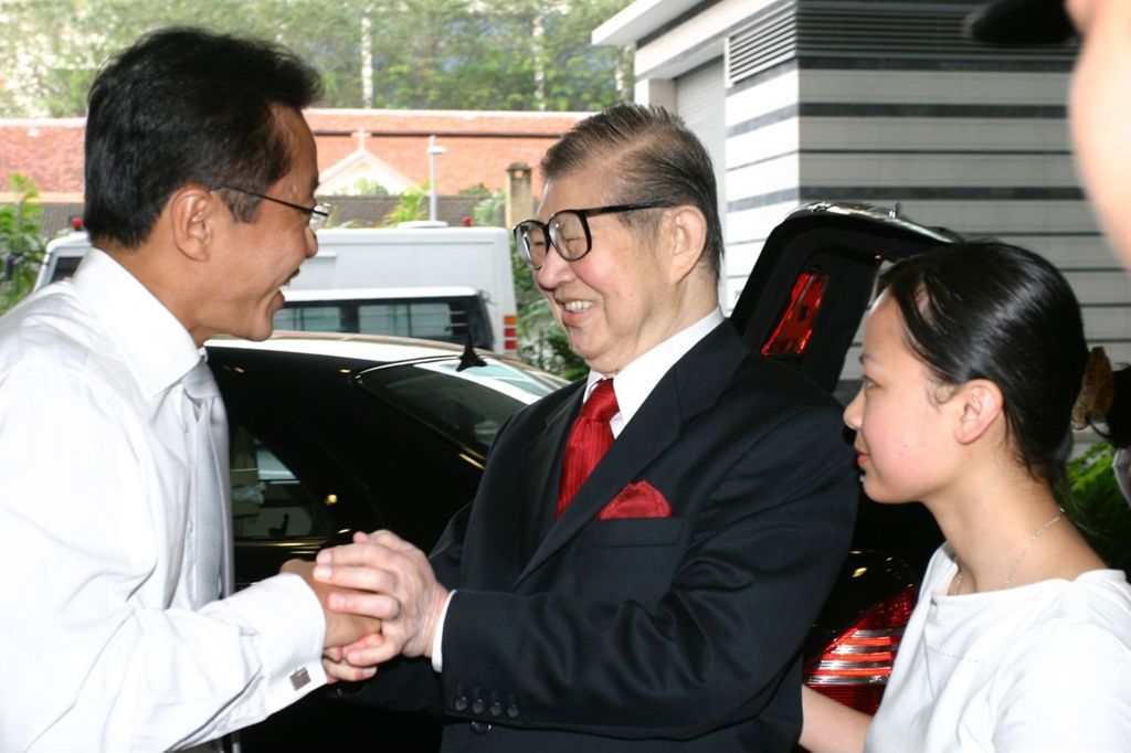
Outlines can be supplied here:
[[775, 3], [726, 41], [726, 80], [736, 84], [791, 59], [857, 61], [1020, 61], [1069, 63], [1076, 44], [987, 46], [962, 36], [972, 6], [936, 3]]

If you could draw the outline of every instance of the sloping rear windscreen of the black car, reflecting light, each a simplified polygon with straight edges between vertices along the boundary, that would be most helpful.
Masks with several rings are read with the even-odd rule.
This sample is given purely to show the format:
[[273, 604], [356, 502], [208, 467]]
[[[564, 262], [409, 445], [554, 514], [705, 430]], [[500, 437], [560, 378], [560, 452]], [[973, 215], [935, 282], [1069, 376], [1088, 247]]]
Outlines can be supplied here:
[[458, 358], [378, 366], [364, 389], [464, 447], [485, 455], [495, 433], [524, 406], [566, 382], [503, 361], [459, 369]]

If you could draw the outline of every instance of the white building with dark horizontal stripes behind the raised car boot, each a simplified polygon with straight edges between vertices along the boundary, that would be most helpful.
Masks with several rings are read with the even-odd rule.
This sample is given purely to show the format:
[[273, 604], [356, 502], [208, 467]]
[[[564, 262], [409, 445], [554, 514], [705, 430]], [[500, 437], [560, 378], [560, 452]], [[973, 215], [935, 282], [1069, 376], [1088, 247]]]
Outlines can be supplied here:
[[1131, 282], [1083, 199], [1067, 132], [1074, 50], [969, 43], [961, 19], [977, 5], [642, 0], [603, 27], [611, 43], [637, 43], [638, 90], [670, 81], [676, 102], [680, 77], [722, 55], [726, 310], [792, 209], [898, 205], [1045, 254], [1080, 298], [1091, 343], [1131, 362]]

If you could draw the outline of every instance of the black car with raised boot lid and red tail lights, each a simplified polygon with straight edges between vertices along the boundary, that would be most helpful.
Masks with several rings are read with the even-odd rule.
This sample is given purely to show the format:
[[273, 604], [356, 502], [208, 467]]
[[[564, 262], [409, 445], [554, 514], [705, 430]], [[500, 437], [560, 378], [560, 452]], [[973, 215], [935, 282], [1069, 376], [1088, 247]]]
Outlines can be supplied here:
[[[805, 207], [768, 239], [732, 321], [765, 357], [846, 400], [855, 390], [841, 372], [878, 270], [956, 239], [893, 213]], [[426, 551], [473, 496], [502, 423], [564, 383], [516, 361], [411, 339], [280, 334], [214, 340], [208, 350], [232, 433], [241, 585], [353, 530], [389, 528]], [[920, 505], [861, 495], [853, 551], [804, 647], [812, 686], [874, 710], [940, 540]], [[438, 720], [314, 693], [245, 730], [243, 744], [346, 751], [397, 739], [398, 750], [428, 751], [439, 729]]]

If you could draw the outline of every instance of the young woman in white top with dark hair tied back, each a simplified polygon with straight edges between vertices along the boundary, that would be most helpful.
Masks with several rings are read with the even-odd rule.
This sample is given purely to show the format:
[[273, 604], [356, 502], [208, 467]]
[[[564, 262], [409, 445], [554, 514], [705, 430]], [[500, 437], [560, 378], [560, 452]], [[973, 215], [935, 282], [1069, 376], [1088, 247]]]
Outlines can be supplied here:
[[927, 566], [874, 718], [810, 690], [810, 751], [1131, 751], [1131, 587], [1064, 518], [1087, 349], [1056, 269], [967, 243], [892, 267], [845, 410], [864, 491], [921, 501]]

